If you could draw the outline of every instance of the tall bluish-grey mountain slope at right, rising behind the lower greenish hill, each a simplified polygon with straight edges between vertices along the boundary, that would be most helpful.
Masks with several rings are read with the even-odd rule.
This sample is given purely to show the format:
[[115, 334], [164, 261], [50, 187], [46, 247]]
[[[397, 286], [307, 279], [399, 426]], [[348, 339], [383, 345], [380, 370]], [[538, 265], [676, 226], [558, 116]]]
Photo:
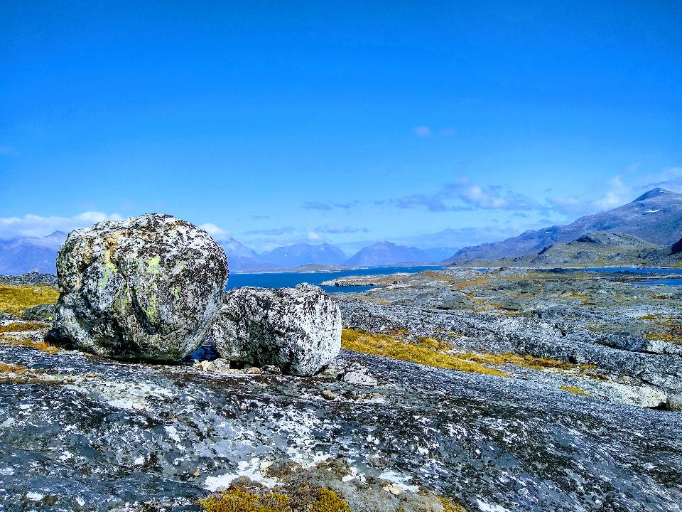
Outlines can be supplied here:
[[[464, 247], [443, 263], [476, 266], [500, 261], [507, 264], [528, 262], [528, 256], [541, 256], [540, 253], [548, 247], [556, 250], [556, 244], [575, 242], [575, 247], [580, 237], [590, 233], [633, 235], [640, 242], [670, 247], [682, 238], [682, 194], [654, 188], [632, 203], [581, 217], [568, 225], [529, 230], [501, 242]], [[622, 240], [613, 239], [611, 242], [620, 243], [622, 247]], [[570, 252], [570, 248], [567, 250]], [[531, 257], [530, 260], [533, 259]]]

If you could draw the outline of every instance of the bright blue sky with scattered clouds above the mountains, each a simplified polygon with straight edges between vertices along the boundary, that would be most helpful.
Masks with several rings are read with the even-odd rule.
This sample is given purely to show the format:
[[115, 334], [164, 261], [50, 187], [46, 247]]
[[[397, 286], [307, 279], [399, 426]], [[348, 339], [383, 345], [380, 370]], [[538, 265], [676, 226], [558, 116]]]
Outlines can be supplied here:
[[460, 247], [682, 191], [678, 1], [116, 4], [0, 6], [0, 238]]

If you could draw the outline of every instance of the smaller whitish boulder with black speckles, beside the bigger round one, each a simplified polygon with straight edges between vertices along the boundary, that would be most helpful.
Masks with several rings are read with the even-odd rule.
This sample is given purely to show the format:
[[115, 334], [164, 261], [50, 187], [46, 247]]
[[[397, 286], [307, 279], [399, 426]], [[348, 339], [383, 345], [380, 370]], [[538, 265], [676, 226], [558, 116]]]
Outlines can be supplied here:
[[211, 329], [223, 358], [313, 375], [341, 350], [341, 314], [322, 289], [230, 290]]

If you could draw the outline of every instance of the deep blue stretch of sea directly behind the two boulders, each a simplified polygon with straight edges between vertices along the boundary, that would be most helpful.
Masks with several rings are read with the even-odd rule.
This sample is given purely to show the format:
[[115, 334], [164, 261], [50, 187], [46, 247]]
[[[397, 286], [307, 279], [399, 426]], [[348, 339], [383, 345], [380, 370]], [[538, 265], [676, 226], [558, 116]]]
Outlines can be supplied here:
[[[267, 272], [258, 274], [230, 274], [227, 282], [227, 289], [253, 286], [264, 288], [285, 288], [295, 287], [296, 284], [307, 282], [310, 284], [320, 284], [323, 281], [347, 277], [352, 275], [388, 275], [398, 272], [408, 272], [410, 274], [423, 272], [423, 270], [438, 270], [440, 266], [424, 267], [368, 267], [353, 270], [340, 270], [339, 272]], [[325, 292], [357, 293], [365, 292], [374, 287], [323, 287]]]

